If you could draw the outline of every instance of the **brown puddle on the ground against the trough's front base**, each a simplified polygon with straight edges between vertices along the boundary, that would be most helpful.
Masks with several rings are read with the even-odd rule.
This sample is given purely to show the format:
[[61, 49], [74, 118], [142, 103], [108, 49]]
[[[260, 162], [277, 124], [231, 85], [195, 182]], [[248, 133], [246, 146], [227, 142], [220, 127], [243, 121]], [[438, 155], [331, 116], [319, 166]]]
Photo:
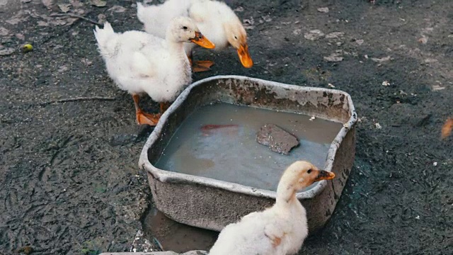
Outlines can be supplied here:
[[150, 242], [154, 237], [164, 251], [178, 253], [197, 249], [209, 251], [219, 235], [218, 232], [173, 221], [154, 207], [149, 210], [143, 225], [144, 233]]

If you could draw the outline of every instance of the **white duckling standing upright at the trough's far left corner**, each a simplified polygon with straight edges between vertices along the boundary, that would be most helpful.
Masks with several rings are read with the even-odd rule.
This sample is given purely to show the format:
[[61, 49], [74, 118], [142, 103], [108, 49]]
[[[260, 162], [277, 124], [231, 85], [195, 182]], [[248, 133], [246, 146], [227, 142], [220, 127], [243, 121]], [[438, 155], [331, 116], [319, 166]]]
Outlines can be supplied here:
[[[165, 39], [136, 30], [115, 33], [108, 22], [103, 29], [96, 26], [94, 35], [108, 74], [120, 89], [132, 94], [140, 125], [156, 125], [168, 102], [174, 101], [183, 86], [192, 82], [183, 43], [215, 47], [186, 17], [173, 18]], [[159, 114], [144, 113], [139, 107], [139, 95], [145, 93], [160, 103]]]

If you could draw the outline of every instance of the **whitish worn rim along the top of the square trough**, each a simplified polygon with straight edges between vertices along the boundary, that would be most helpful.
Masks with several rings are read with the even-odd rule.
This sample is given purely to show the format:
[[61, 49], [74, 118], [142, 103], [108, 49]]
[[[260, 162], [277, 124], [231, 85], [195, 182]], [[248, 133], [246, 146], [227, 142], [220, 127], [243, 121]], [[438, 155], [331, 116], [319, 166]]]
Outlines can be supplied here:
[[[144, 169], [147, 171], [148, 174], [151, 174], [153, 179], [157, 181], [161, 181], [164, 183], [184, 183], [184, 184], [199, 184], [202, 186], [209, 186], [212, 188], [221, 188], [226, 191], [231, 191], [235, 193], [243, 193], [244, 195], [249, 196], [258, 196], [263, 198], [271, 198], [274, 199], [277, 197], [276, 191], [269, 191], [260, 188], [253, 188], [251, 186], [245, 186], [238, 183], [231, 183], [228, 181], [220, 181], [217, 179], [202, 177], [202, 176], [193, 176], [190, 174], [182, 174], [173, 171], [167, 171], [164, 169], [159, 169], [148, 159], [148, 149], [153, 145], [155, 142], [158, 142], [159, 137], [161, 135], [162, 129], [164, 125], [168, 121], [168, 116], [171, 115], [176, 108], [180, 106], [181, 103], [185, 101], [186, 98], [190, 95], [192, 89], [202, 84], [205, 84], [209, 81], [219, 80], [219, 79], [236, 79], [239, 81], [254, 81], [259, 84], [265, 84], [270, 86], [277, 86], [282, 89], [292, 89], [292, 90], [299, 90], [299, 91], [319, 91], [319, 92], [331, 92], [335, 94], [343, 94], [347, 98], [347, 102], [349, 105], [350, 110], [350, 119], [347, 123], [343, 123], [343, 127], [340, 129], [338, 134], [336, 135], [335, 139], [331, 143], [331, 147], [328, 149], [326, 163], [324, 164], [323, 170], [332, 171], [333, 162], [336, 156], [336, 152], [338, 151], [341, 142], [348, 134], [349, 130], [351, 130], [355, 123], [357, 122], [357, 113], [355, 112], [354, 104], [352, 103], [352, 98], [350, 94], [345, 91], [340, 91], [338, 89], [324, 89], [318, 87], [308, 87], [308, 86], [298, 86], [298, 85], [291, 85], [291, 84], [283, 84], [277, 81], [268, 81], [265, 79], [258, 79], [258, 78], [251, 78], [251, 77], [244, 77], [239, 75], [217, 75], [214, 77], [208, 77], [205, 79], [201, 79], [199, 81], [190, 84], [181, 94], [176, 98], [176, 100], [171, 104], [171, 106], [166, 110], [166, 112], [161, 115], [159, 123], [157, 123], [156, 127], [154, 128], [151, 135], [149, 135], [147, 142], [145, 143], [142, 153], [139, 157], [139, 168]], [[150, 183], [151, 184], [151, 183]], [[323, 192], [324, 188], [327, 186], [327, 181], [319, 181], [316, 186], [309, 189], [308, 191], [302, 191], [297, 193], [298, 199], [310, 199], [314, 198], [320, 193]]]

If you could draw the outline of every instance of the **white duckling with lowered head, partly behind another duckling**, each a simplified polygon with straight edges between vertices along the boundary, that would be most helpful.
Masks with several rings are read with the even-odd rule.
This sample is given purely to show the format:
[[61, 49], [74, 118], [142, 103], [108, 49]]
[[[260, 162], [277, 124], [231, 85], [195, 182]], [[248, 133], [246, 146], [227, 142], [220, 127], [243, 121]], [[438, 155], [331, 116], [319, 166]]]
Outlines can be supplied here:
[[[200, 31], [215, 44], [215, 50], [233, 46], [243, 67], [251, 68], [253, 61], [248, 53], [247, 33], [236, 13], [221, 1], [212, 0], [168, 0], [164, 4], [144, 6], [137, 2], [137, 17], [144, 24], [144, 30], [161, 38], [171, 18], [187, 16], [192, 18]], [[185, 43], [185, 52], [192, 63], [192, 50], [195, 45]], [[194, 72], [210, 70], [212, 61], [193, 63]]]

